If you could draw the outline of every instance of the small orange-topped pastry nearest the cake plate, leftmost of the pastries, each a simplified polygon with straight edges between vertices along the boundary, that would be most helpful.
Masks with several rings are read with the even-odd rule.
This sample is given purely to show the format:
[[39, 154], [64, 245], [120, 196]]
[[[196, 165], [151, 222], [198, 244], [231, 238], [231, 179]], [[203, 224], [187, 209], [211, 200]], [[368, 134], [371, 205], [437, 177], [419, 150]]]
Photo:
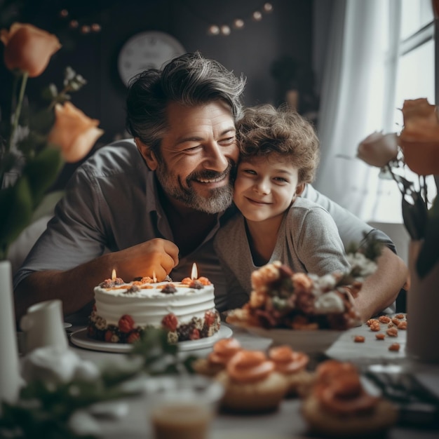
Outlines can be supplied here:
[[195, 372], [206, 377], [215, 377], [215, 375], [226, 368], [229, 360], [236, 352], [243, 349], [237, 339], [218, 340], [214, 345], [212, 352], [206, 358], [197, 358], [192, 363]]

